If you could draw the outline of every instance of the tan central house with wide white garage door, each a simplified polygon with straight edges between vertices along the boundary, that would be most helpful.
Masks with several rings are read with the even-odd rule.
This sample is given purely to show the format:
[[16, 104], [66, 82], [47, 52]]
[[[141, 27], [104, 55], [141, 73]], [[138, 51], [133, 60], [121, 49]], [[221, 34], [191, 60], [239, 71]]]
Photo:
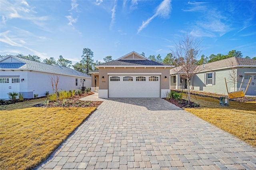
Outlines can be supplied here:
[[152, 61], [134, 51], [92, 71], [92, 91], [100, 98], [166, 97], [170, 92], [170, 65]]

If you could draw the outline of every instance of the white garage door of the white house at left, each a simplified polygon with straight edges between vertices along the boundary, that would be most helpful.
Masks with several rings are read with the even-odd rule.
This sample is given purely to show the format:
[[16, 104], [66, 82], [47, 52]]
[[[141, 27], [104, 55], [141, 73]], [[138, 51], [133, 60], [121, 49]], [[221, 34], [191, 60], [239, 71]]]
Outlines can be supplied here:
[[9, 92], [20, 92], [20, 78], [1, 77], [0, 78], [0, 99], [9, 99]]

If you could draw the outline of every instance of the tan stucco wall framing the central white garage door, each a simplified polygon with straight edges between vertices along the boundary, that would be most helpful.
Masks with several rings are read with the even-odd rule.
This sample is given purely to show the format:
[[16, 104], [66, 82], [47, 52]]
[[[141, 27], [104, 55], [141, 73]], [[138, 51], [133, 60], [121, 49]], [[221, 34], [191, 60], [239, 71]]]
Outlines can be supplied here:
[[[152, 75], [154, 75], [154, 73], [162, 73], [162, 75], [160, 75], [160, 89], [170, 89], [170, 68], [166, 67], [166, 69], [164, 68], [156, 68], [154, 69], [154, 67], [146, 67], [146, 69], [143, 68], [139, 68], [136, 67], [134, 69], [134, 67], [132, 68], [128, 68], [126, 67], [124, 69], [124, 67], [116, 67], [115, 69], [112, 68], [103, 68], [100, 67], [99, 68], [99, 89], [108, 89], [108, 73], [138, 73], [138, 75], [140, 73], [152, 73]], [[104, 76], [104, 80], [101, 79], [101, 77]], [[167, 77], [167, 80], [164, 77]]]

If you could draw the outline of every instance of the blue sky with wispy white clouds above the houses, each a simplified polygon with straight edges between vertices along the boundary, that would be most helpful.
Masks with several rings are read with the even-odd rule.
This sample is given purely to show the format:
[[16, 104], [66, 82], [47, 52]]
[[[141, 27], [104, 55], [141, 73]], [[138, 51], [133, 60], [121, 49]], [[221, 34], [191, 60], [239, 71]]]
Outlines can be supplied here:
[[94, 61], [131, 51], [164, 59], [188, 32], [202, 40], [201, 55], [256, 57], [254, 0], [1, 0], [0, 11], [1, 55], [62, 55], [75, 64], [90, 48]]

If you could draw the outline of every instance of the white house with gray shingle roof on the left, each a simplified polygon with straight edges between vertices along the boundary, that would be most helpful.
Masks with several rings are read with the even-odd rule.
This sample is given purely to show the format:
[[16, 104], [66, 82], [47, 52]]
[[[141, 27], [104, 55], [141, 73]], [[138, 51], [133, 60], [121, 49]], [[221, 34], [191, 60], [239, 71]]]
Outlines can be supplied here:
[[0, 99], [8, 99], [9, 92], [20, 92], [24, 98], [52, 94], [51, 77], [57, 76], [58, 91], [81, 89], [83, 83], [91, 87], [91, 77], [74, 69], [8, 55], [0, 60]]

